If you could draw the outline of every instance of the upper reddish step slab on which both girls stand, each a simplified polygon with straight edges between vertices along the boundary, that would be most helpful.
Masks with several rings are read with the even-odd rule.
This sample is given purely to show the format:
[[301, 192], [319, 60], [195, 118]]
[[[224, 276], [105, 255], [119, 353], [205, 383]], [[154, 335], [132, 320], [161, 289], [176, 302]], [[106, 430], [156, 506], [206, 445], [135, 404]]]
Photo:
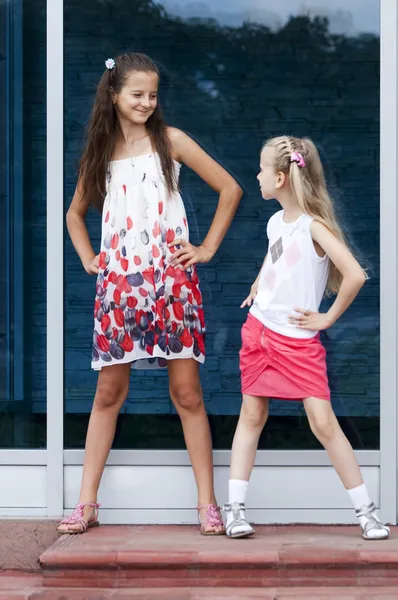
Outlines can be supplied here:
[[43, 585], [54, 589], [398, 589], [398, 538], [366, 542], [358, 527], [336, 526], [262, 526], [249, 540], [204, 537], [190, 526], [102, 526], [62, 536], [41, 565]]

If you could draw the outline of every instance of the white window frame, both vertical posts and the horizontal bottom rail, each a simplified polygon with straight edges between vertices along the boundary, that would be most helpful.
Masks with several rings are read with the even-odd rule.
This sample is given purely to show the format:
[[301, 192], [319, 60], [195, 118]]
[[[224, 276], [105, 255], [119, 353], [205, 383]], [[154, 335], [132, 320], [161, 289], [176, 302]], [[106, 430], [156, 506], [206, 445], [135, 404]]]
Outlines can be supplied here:
[[[384, 520], [397, 522], [397, 35], [395, 0], [380, 0], [380, 451], [358, 451], [363, 467], [380, 467], [380, 506]], [[82, 465], [82, 450], [64, 450], [64, 23], [63, 0], [47, 0], [47, 450], [1, 450], [0, 467], [46, 467], [45, 509], [10, 514], [64, 513], [64, 469]], [[216, 466], [229, 464], [230, 453], [215, 451]], [[108, 464], [187, 465], [185, 451], [114, 450]], [[329, 465], [321, 451], [260, 451], [259, 466]], [[17, 472], [17, 471], [16, 471]], [[30, 513], [29, 513], [30, 510]], [[5, 511], [0, 508], [0, 513]], [[39, 514], [37, 513], [37, 514]], [[36, 513], [35, 513], [36, 514]]]

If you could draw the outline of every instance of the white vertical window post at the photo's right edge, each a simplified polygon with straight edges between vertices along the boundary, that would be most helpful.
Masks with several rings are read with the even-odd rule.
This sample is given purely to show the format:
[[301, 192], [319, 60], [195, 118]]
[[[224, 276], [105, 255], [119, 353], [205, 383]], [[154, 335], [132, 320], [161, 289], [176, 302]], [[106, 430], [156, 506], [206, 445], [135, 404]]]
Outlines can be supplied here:
[[380, 508], [397, 522], [397, 66], [396, 0], [381, 0]]

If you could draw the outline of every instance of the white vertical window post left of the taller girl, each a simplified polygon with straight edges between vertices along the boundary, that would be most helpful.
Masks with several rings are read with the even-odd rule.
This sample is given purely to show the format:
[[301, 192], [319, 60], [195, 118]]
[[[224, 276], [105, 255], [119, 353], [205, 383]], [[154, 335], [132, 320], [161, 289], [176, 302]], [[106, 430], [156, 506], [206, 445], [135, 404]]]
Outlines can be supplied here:
[[47, 0], [47, 515], [63, 514], [64, 24]]

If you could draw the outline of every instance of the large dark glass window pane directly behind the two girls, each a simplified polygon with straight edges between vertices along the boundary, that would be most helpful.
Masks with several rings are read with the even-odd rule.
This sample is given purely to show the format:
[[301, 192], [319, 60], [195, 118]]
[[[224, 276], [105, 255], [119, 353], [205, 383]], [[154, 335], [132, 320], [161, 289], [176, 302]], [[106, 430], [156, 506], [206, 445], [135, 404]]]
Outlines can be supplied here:
[[[357, 449], [379, 447], [379, 5], [376, 1], [65, 0], [66, 198], [76, 183], [84, 125], [104, 60], [140, 49], [166, 75], [170, 124], [193, 136], [245, 189], [213, 262], [200, 267], [207, 319], [202, 369], [215, 448], [230, 448], [240, 410], [239, 306], [266, 251], [276, 203], [264, 204], [256, 174], [263, 141], [291, 133], [320, 146], [344, 223], [370, 280], [344, 318], [323, 334], [333, 405]], [[161, 35], [159, 34], [161, 32]], [[193, 243], [217, 198], [182, 171]], [[99, 247], [99, 218], [89, 229]], [[83, 447], [96, 375], [90, 371], [94, 282], [66, 239], [67, 447]], [[327, 304], [327, 303], [326, 303]], [[326, 306], [325, 304], [325, 306]], [[133, 373], [118, 448], [183, 448], [165, 373]], [[272, 402], [260, 448], [319, 448], [299, 403]]]

